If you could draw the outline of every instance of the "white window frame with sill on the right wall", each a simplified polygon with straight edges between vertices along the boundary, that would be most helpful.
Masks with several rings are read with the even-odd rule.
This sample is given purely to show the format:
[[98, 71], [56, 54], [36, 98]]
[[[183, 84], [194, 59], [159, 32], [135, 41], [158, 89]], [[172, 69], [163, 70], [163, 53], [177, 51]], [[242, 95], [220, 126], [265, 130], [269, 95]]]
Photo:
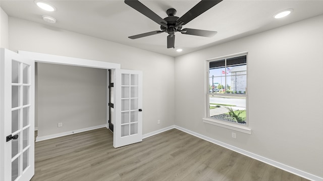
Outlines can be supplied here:
[[[221, 94], [217, 95], [214, 93], [209, 93], [209, 62], [211, 61], [217, 61], [217, 60], [223, 60], [223, 59], [228, 59], [228, 58], [233, 58], [233, 57], [238, 57], [238, 56], [247, 56], [247, 63], [246, 63], [246, 74], [247, 74], [247, 91], [246, 94]], [[231, 130], [251, 134], [251, 128], [249, 127], [249, 120], [248, 120], [248, 52], [241, 52], [241, 53], [236, 53], [236, 54], [231, 54], [231, 55], [225, 55], [221, 57], [216, 57], [216, 58], [211, 58], [207, 59], [205, 61], [206, 63], [206, 72], [205, 72], [205, 117], [202, 119], [204, 123], [207, 124], [212, 124], [224, 128], [228, 128]], [[240, 123], [235, 123], [235, 122], [230, 122], [230, 121], [225, 121], [225, 120], [220, 120], [220, 119], [214, 119], [209, 117], [209, 96], [210, 95], [216, 95], [216, 96], [230, 96], [230, 97], [245, 97], [246, 99], [246, 124], [240, 124]]]

